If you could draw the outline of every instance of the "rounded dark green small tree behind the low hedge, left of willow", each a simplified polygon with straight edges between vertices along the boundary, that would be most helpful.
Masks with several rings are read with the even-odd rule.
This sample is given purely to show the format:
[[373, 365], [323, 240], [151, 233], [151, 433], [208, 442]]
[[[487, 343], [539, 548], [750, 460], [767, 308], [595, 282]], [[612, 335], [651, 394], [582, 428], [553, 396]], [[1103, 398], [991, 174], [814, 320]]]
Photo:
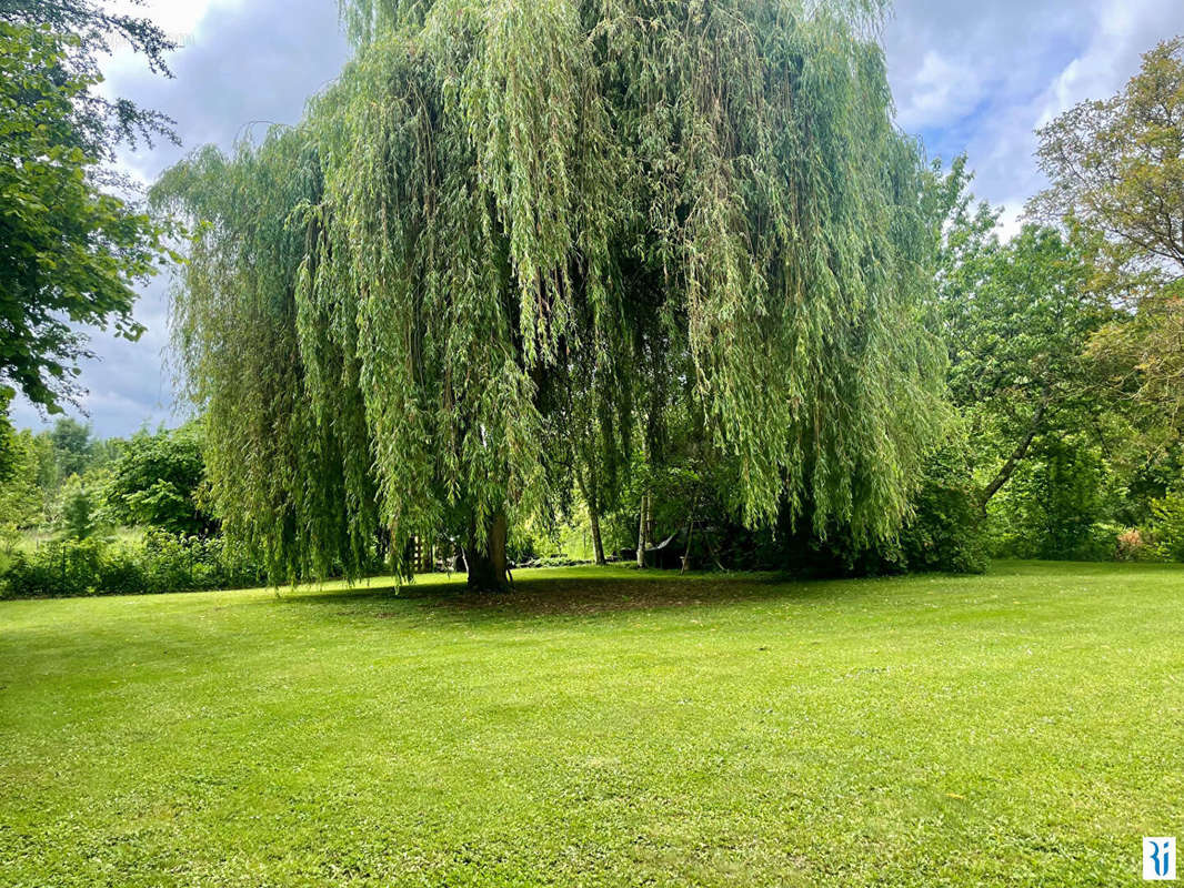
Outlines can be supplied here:
[[218, 523], [199, 504], [204, 485], [205, 461], [193, 427], [140, 433], [111, 466], [108, 514], [124, 525], [208, 536]]

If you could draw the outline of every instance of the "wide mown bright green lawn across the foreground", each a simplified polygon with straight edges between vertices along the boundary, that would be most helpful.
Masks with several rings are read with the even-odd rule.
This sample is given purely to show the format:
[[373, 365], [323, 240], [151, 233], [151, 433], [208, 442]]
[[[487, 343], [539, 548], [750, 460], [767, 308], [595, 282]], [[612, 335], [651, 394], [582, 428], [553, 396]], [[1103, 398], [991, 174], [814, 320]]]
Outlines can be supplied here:
[[1141, 884], [1184, 571], [0, 603], [0, 883]]

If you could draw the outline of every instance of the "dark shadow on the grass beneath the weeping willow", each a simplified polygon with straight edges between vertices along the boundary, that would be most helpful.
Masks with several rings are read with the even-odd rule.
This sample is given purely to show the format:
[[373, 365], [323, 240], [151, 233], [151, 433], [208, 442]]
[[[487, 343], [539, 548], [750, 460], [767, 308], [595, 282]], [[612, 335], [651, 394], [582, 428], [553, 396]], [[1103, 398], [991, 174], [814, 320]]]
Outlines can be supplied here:
[[[355, 605], [343, 616], [406, 617], [416, 611], [457, 617], [588, 617], [625, 611], [718, 606], [760, 600], [850, 598], [876, 580], [804, 580], [786, 574], [681, 575], [628, 568], [579, 568], [573, 572], [522, 572], [508, 592], [470, 592], [463, 575], [440, 583], [432, 578], [397, 586], [356, 586], [285, 596], [292, 604]], [[881, 580], [882, 581], [882, 580]], [[378, 583], [374, 580], [372, 583]]]

